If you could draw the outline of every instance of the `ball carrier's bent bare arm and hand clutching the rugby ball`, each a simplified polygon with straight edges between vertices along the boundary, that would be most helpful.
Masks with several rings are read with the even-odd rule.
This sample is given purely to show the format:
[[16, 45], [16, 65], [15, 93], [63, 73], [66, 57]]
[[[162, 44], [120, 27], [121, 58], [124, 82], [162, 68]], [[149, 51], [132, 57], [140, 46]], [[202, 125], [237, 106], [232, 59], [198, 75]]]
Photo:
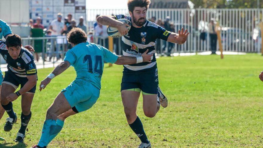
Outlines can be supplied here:
[[120, 34], [122, 35], [128, 33], [128, 29], [126, 28], [126, 26], [129, 25], [116, 20], [114, 16], [99, 16], [97, 18], [97, 22], [100, 23], [101, 25], [107, 25], [117, 28]]

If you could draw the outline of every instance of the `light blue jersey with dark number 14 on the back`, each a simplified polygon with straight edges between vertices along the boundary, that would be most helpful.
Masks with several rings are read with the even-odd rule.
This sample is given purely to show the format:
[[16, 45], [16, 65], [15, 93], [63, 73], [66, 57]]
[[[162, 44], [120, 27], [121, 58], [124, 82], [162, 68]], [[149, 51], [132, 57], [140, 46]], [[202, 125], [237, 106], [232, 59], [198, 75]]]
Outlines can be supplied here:
[[70, 62], [70, 65], [75, 68], [76, 80], [86, 80], [100, 89], [104, 62], [115, 63], [117, 58], [118, 56], [108, 49], [86, 42], [70, 49], [66, 53], [64, 61]]

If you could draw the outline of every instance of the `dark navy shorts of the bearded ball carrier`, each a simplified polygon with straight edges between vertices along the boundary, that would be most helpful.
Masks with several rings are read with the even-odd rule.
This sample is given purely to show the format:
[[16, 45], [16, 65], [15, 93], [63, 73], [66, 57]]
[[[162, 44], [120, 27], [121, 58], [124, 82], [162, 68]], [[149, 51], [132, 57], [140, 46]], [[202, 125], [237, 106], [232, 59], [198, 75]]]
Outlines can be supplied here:
[[127, 89], [140, 89], [147, 94], [158, 94], [157, 65], [139, 71], [123, 69], [121, 91]]

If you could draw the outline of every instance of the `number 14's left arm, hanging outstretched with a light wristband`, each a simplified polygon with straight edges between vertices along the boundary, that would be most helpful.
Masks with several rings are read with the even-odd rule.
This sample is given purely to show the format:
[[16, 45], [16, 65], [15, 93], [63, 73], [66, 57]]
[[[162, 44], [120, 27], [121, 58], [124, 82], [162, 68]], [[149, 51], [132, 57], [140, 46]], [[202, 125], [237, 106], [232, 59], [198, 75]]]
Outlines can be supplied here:
[[43, 81], [41, 81], [39, 90], [41, 91], [42, 89], [45, 89], [54, 77], [64, 72], [69, 66], [70, 63], [68, 61], [63, 61], [57, 65], [56, 68]]

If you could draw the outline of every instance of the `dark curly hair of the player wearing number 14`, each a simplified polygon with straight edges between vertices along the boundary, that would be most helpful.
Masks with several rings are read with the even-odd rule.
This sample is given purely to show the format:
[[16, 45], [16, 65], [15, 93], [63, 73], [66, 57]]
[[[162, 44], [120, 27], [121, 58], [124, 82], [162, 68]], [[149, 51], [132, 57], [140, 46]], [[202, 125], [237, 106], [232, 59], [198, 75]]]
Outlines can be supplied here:
[[67, 40], [69, 43], [73, 43], [73, 44], [79, 44], [79, 43], [83, 43], [83, 42], [87, 42], [87, 35], [85, 33], [85, 31], [83, 31], [80, 28], [72, 28], [69, 33], [67, 34]]

